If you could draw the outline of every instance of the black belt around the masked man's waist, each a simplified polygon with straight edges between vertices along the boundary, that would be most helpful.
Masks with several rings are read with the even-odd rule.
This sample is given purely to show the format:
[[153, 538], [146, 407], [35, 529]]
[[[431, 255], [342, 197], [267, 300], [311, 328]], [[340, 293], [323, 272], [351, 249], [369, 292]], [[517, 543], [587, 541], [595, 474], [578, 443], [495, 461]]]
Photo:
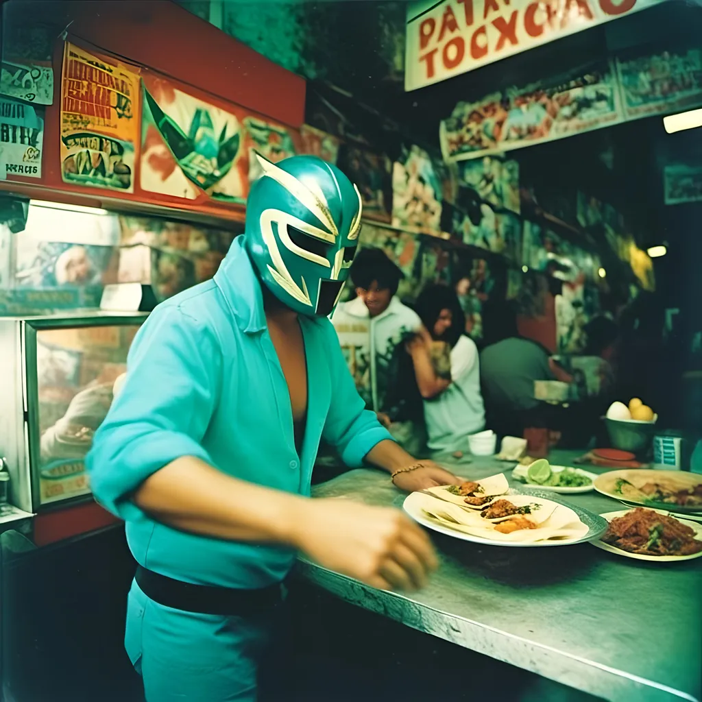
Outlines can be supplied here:
[[135, 579], [142, 592], [154, 602], [199, 614], [260, 616], [283, 602], [282, 583], [258, 590], [192, 585], [141, 566], [137, 566]]

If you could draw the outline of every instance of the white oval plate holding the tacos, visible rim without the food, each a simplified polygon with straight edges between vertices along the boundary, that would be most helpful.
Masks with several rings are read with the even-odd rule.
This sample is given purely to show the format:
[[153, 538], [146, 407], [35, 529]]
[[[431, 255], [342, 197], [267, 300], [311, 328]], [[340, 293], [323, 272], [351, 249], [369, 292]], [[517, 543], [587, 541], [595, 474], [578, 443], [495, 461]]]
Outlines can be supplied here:
[[[534, 494], [530, 494], [534, 495]], [[541, 495], [536, 495], [542, 498], [544, 501], [548, 502]], [[456, 529], [451, 529], [451, 527], [446, 527], [441, 522], [432, 519], [427, 515], [424, 510], [420, 507], [421, 498], [423, 495], [421, 493], [411, 493], [409, 494], [404, 502], [402, 503], [402, 508], [404, 511], [412, 518], [415, 522], [422, 524], [423, 527], [427, 529], [432, 529], [433, 531], [438, 531], [439, 534], [446, 534], [446, 536], [453, 536], [454, 538], [460, 538], [463, 541], [472, 541], [473, 543], [482, 543], [486, 546], [518, 546], [518, 547], [531, 547], [534, 546], [568, 546], [575, 543], [582, 543], [583, 541], [592, 541], [592, 539], [599, 538], [607, 529], [607, 525], [604, 520], [599, 519], [597, 515], [587, 512], [587, 510], [581, 510], [581, 508], [573, 509], [561, 502], [557, 502], [557, 509], [567, 510], [569, 516], [571, 516], [572, 522], [581, 522], [582, 533], [578, 534], [574, 538], [562, 539], [562, 540], [551, 540], [551, 541], [534, 541], [521, 543], [519, 541], [498, 541], [492, 538], [482, 538], [481, 536], [473, 536], [472, 534], [466, 534], [465, 531], [458, 531]], [[504, 496], [509, 498], [508, 495]], [[553, 502], [553, 501], [551, 501]], [[601, 524], [600, 524], [601, 522]]]

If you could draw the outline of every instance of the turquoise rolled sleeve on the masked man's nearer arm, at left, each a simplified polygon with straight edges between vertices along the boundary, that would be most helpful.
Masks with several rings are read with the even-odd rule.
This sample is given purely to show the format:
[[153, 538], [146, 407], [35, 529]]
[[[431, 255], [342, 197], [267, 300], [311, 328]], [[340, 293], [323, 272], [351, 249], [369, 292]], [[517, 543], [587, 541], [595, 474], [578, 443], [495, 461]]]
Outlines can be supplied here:
[[119, 396], [86, 457], [93, 494], [110, 512], [139, 513], [131, 494], [182, 456], [212, 463], [201, 446], [221, 355], [213, 333], [180, 307], [157, 307], [135, 337]]

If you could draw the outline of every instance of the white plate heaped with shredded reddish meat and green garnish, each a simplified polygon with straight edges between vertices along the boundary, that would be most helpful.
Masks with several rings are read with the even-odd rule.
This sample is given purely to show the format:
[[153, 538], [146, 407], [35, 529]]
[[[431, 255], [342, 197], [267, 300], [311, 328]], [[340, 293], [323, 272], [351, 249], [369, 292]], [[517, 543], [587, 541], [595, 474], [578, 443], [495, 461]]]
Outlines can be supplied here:
[[642, 561], [687, 561], [702, 556], [702, 524], [666, 510], [636, 507], [600, 515], [609, 527], [593, 546]]

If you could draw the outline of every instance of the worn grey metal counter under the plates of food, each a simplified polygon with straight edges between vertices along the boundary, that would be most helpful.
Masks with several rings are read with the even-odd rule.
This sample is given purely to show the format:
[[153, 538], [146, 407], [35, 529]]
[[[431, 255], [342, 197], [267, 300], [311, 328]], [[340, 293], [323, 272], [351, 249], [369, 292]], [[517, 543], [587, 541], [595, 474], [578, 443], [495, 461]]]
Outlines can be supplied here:
[[[452, 470], [467, 478], [505, 472], [514, 486], [512, 467], [476, 458]], [[375, 470], [347, 472], [313, 495], [371, 505], [403, 499]], [[623, 509], [594, 491], [562, 497], [597, 513]], [[504, 548], [431, 536], [439, 570], [409, 596], [304, 559], [300, 572], [347, 602], [611, 702], [700, 701], [702, 559], [656, 564], [586, 543]]]

